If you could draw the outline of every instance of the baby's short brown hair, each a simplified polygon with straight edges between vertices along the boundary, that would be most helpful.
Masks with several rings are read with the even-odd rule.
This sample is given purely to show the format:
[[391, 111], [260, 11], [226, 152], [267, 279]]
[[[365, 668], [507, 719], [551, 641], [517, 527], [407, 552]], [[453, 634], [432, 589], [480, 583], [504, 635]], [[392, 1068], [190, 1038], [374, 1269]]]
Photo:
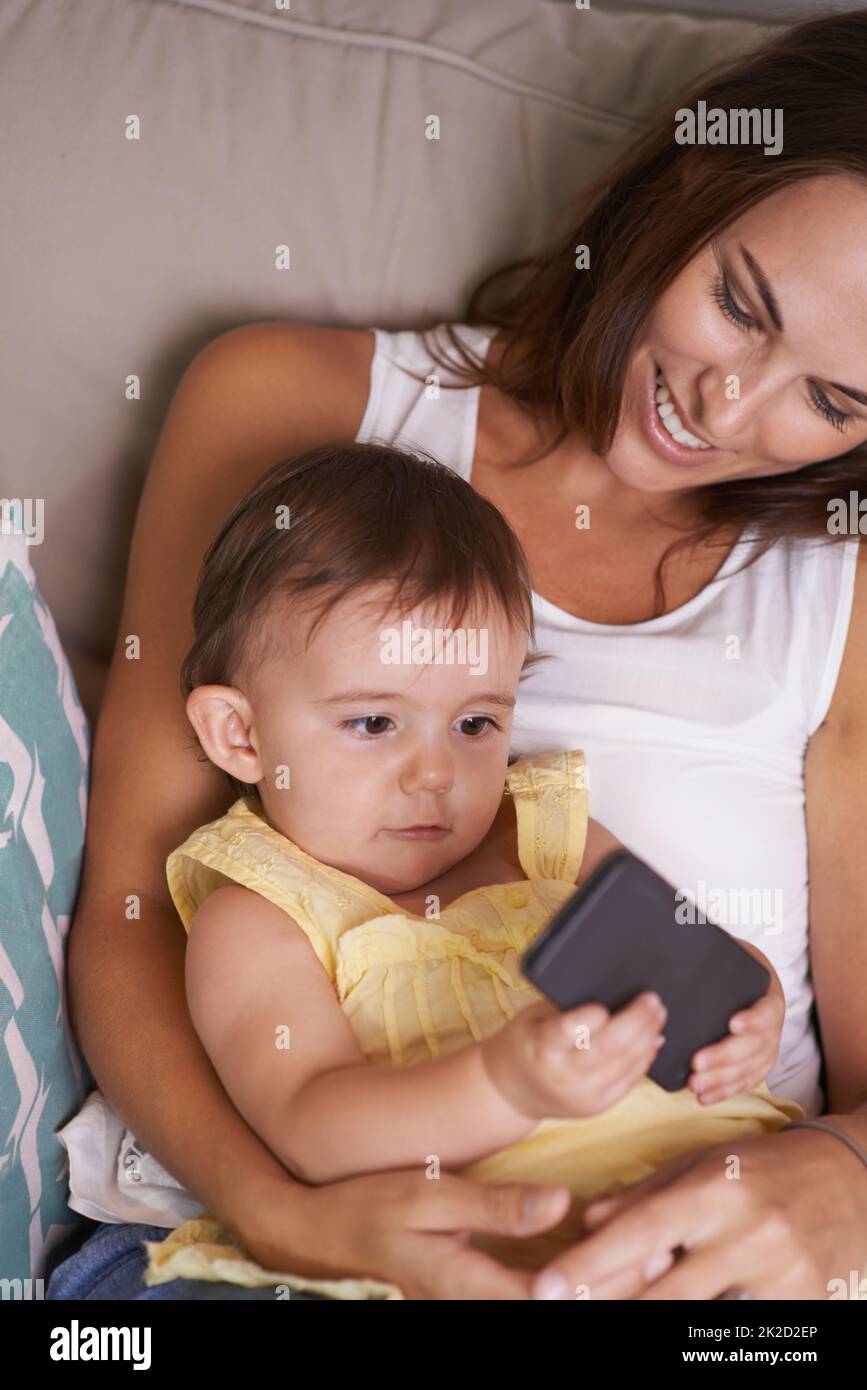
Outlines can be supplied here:
[[[521, 545], [492, 502], [422, 452], [379, 443], [311, 449], [270, 468], [211, 542], [193, 602], [195, 641], [181, 666], [186, 701], [197, 685], [240, 685], [274, 652], [275, 600], [315, 613], [306, 638], [346, 595], [386, 581], [382, 612], [449, 600], [457, 627], [488, 599], [513, 631], [535, 639]], [[285, 524], [283, 524], [285, 523]], [[543, 652], [528, 652], [524, 674]], [[196, 735], [192, 742], [199, 744]], [[206, 760], [204, 755], [199, 759]], [[256, 787], [229, 776], [235, 790]]]

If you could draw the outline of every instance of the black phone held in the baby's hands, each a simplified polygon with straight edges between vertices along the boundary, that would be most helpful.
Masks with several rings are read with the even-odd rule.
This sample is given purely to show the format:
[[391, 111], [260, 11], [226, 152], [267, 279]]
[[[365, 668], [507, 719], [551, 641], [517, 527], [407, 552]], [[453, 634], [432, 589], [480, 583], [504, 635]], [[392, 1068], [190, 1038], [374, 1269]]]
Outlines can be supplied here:
[[521, 959], [531, 984], [561, 1009], [596, 1002], [614, 1013], [654, 990], [668, 1016], [647, 1074], [667, 1091], [686, 1084], [693, 1054], [725, 1037], [731, 1015], [771, 981], [722, 927], [691, 923], [685, 902], [643, 859], [616, 849]]

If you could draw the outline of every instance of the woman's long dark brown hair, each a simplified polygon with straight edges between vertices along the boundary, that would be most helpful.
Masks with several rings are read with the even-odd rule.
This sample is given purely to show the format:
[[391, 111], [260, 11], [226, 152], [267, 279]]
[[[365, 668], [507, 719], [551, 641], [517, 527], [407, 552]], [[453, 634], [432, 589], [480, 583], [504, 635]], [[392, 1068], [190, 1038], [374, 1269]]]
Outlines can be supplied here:
[[[528, 414], [560, 427], [543, 453], [511, 467], [546, 457], [578, 425], [596, 453], [609, 450], [631, 345], [661, 292], [714, 235], [800, 179], [867, 178], [866, 72], [867, 10], [809, 19], [746, 57], [707, 70], [675, 101], [660, 106], [649, 131], [581, 192], [581, 215], [565, 235], [477, 284], [464, 321], [506, 331], [496, 366], [474, 354], [450, 324], [445, 327], [459, 360], [443, 359], [427, 343], [436, 322], [427, 321], [421, 332], [432, 359], [464, 378], [442, 389], [492, 384]], [[674, 113], [699, 100], [709, 110], [782, 108], [784, 149], [770, 157], [759, 145], [678, 145]], [[591, 250], [591, 268], [577, 272], [581, 245]], [[517, 272], [524, 272], [521, 284], [496, 307], [485, 307], [490, 286]], [[781, 538], [828, 538], [828, 502], [857, 491], [866, 461], [867, 446], [856, 445], [791, 474], [696, 489], [697, 524], [668, 546], [656, 570], [656, 613], [666, 609], [663, 566], [685, 545], [724, 532], [731, 541], [732, 530], [752, 530], [752, 564]], [[835, 539], [831, 535], [829, 543]]]

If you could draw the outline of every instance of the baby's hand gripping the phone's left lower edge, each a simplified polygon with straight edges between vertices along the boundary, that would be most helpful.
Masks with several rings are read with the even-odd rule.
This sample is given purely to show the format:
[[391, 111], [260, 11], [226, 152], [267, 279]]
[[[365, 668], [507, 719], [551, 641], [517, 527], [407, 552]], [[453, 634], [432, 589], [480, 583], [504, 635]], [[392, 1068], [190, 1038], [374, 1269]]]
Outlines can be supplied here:
[[479, 1047], [488, 1079], [518, 1115], [575, 1119], [617, 1105], [646, 1076], [664, 1019], [656, 995], [639, 995], [614, 1015], [602, 1004], [561, 1013], [542, 1001]]

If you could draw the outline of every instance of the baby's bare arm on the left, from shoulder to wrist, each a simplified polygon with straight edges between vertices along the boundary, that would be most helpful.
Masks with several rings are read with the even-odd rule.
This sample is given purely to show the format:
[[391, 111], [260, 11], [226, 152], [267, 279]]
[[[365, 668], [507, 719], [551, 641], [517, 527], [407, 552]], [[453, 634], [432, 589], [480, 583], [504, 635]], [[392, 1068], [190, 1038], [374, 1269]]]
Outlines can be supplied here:
[[463, 1168], [534, 1127], [500, 1094], [470, 1044], [407, 1065], [364, 1058], [308, 937], [242, 885], [196, 913], [188, 1004], [222, 1084], [297, 1177]]

